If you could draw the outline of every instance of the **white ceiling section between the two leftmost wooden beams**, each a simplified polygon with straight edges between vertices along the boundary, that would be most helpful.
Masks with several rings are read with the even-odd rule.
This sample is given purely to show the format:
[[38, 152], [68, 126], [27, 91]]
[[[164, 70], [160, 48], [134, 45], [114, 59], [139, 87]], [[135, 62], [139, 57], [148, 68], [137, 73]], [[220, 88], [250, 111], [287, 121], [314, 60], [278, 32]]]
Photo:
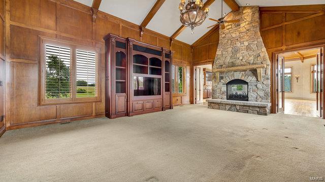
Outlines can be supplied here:
[[154, 0], [102, 0], [99, 10], [140, 25], [155, 3]]

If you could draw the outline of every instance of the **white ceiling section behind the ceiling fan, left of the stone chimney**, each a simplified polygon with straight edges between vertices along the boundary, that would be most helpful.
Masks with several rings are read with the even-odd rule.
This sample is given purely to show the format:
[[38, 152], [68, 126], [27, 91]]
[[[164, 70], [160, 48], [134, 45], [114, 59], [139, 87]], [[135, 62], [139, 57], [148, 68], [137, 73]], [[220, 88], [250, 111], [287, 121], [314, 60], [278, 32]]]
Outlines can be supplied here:
[[[206, 32], [208, 32], [211, 29], [207, 27], [215, 24], [215, 21], [209, 20], [209, 18], [214, 18], [214, 19], [221, 18], [221, 1], [222, 0], [216, 0], [215, 2], [212, 3], [212, 5], [210, 5], [209, 16], [202, 23], [202, 25], [194, 28], [193, 34], [191, 34], [192, 32], [191, 29], [189, 27], [186, 27], [185, 30], [183, 30], [178, 35], [178, 37], [176, 37], [176, 39], [184, 43], [187, 43], [189, 45], [192, 45], [194, 42], [200, 39]], [[229, 6], [223, 3], [223, 13], [229, 13], [231, 11], [232, 10], [229, 8]]]

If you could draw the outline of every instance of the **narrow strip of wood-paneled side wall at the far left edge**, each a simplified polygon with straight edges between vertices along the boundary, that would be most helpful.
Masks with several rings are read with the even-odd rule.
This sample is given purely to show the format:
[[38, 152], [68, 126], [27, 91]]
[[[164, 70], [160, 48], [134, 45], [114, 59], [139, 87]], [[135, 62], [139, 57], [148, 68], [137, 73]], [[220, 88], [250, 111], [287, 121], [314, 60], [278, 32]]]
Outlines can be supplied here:
[[5, 115], [5, 1], [0, 0], [0, 136], [5, 132], [5, 120], [1, 121], [1, 116]]

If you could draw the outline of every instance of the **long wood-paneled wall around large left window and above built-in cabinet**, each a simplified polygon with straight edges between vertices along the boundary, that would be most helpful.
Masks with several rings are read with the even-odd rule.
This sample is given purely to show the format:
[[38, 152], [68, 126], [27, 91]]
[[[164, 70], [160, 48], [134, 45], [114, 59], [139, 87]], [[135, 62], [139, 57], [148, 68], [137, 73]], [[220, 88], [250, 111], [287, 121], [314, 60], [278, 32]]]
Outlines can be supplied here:
[[[143, 36], [140, 37], [138, 25], [104, 12], [98, 12], [93, 22], [90, 7], [72, 0], [5, 1], [5, 42], [8, 53], [6, 55], [7, 129], [104, 116], [105, 44], [103, 37], [108, 33], [167, 49], [172, 48], [175, 62], [190, 63], [189, 45], [178, 41], [171, 45], [169, 37], [149, 29], [144, 29]], [[40, 35], [101, 49], [99, 65], [101, 101], [39, 105]]]

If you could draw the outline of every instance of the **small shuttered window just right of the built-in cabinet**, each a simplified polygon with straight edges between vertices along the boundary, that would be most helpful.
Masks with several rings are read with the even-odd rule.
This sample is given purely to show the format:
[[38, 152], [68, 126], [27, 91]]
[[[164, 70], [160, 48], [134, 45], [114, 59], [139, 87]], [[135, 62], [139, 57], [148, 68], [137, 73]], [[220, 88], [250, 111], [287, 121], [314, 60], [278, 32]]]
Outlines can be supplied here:
[[173, 94], [186, 94], [186, 68], [172, 65], [172, 92]]

